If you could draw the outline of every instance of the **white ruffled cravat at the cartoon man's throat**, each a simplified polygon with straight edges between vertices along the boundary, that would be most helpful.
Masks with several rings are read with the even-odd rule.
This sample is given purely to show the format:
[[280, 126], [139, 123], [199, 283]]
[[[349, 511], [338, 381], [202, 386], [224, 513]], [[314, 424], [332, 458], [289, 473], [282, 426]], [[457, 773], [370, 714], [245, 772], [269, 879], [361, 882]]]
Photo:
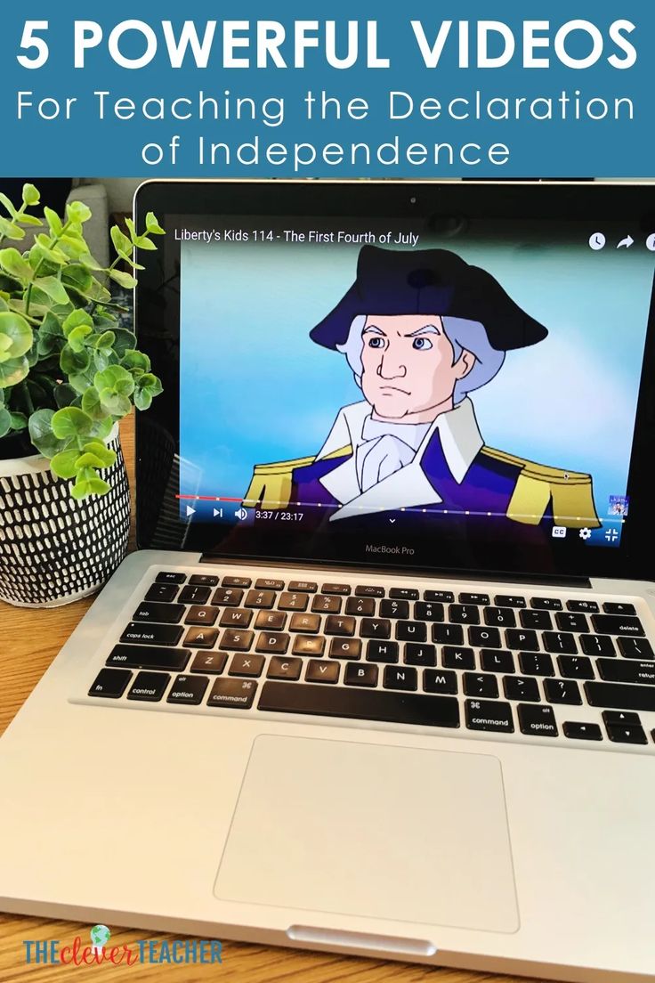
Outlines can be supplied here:
[[392, 424], [366, 417], [355, 451], [357, 480], [367, 492], [413, 460], [430, 424]]

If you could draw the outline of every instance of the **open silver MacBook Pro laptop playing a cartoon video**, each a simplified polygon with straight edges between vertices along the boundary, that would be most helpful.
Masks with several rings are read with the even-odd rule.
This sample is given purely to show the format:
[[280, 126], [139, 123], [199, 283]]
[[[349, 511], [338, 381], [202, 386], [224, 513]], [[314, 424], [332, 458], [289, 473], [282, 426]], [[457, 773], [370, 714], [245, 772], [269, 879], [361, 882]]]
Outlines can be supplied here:
[[0, 905], [655, 979], [648, 186], [152, 182], [138, 549], [0, 743]]

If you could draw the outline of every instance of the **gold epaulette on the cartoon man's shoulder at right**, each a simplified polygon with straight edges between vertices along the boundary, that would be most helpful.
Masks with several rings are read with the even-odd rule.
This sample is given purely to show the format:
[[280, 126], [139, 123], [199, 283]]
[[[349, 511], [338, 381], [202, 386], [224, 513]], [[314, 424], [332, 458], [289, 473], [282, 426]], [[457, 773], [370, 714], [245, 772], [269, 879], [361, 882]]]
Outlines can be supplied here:
[[598, 529], [602, 525], [593, 500], [591, 475], [536, 464], [494, 447], [482, 447], [481, 453], [519, 468], [517, 486], [507, 510], [509, 519], [537, 526], [552, 503], [556, 526]]

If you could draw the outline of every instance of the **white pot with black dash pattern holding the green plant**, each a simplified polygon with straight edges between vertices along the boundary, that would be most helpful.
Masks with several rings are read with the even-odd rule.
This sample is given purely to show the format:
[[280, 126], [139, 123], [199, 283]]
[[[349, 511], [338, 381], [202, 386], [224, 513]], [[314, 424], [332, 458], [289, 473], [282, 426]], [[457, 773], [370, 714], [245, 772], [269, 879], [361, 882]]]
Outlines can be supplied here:
[[97, 591], [128, 549], [130, 489], [118, 428], [105, 495], [71, 497], [40, 455], [0, 460], [0, 599], [19, 607], [67, 605]]

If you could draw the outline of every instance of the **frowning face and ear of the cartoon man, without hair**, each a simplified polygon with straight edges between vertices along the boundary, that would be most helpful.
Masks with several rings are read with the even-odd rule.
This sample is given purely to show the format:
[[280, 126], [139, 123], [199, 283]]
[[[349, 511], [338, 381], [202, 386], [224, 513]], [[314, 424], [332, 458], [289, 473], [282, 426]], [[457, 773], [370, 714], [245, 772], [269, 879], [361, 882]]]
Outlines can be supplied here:
[[377, 417], [430, 423], [453, 406], [455, 384], [475, 357], [453, 345], [437, 315], [369, 315], [362, 330], [361, 388]]

